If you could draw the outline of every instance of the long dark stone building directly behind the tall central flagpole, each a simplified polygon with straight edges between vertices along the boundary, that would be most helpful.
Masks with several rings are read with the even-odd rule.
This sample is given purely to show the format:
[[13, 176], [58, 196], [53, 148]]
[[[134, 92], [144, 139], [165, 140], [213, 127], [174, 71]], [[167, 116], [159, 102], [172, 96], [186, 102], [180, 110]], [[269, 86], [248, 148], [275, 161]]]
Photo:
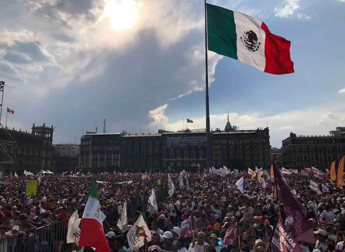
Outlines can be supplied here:
[[[269, 167], [269, 130], [238, 130], [229, 121], [225, 130], [211, 132], [213, 166], [231, 169]], [[100, 153], [107, 151], [107, 154]], [[109, 149], [109, 150], [108, 150]], [[116, 164], [115, 164], [115, 162]], [[153, 171], [171, 167], [196, 170], [206, 166], [206, 129], [158, 134], [88, 134], [81, 137], [80, 166], [87, 170]], [[208, 169], [208, 168], [207, 168]]]

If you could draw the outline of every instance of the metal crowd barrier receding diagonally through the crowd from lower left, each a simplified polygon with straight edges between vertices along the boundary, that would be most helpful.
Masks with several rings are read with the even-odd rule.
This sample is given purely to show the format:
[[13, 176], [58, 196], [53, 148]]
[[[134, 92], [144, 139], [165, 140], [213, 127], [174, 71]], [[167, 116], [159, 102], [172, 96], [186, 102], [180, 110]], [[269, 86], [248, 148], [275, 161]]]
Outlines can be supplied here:
[[[164, 202], [168, 196], [166, 190], [157, 190], [155, 194], [158, 204]], [[127, 218], [134, 216], [139, 205], [146, 209], [148, 199], [149, 195], [127, 201]], [[117, 222], [119, 214], [115, 205], [102, 208], [102, 211], [107, 217], [103, 222], [106, 233], [111, 228], [111, 223]], [[28, 232], [24, 238], [22, 234], [13, 238], [5, 238], [6, 235], [1, 234], [0, 252], [71, 252], [75, 244], [66, 243], [67, 228], [68, 221], [60, 221]]]

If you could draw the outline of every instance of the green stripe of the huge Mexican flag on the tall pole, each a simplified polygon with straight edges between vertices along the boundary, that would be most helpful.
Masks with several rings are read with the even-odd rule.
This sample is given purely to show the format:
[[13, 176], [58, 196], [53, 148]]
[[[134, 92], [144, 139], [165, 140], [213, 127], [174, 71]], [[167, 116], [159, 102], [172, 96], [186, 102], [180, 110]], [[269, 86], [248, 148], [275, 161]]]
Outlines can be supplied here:
[[234, 12], [206, 4], [208, 50], [237, 60], [237, 34]]

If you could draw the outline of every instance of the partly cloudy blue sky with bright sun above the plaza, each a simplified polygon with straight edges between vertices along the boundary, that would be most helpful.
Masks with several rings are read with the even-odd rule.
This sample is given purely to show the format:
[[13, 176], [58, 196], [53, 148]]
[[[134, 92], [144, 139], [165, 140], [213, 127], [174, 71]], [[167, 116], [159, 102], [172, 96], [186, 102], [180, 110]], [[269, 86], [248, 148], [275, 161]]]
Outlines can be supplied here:
[[[262, 19], [291, 41], [295, 73], [272, 75], [208, 52], [211, 128], [227, 113], [266, 127], [281, 147], [292, 132], [345, 126], [345, 0], [208, 0]], [[1, 0], [0, 80], [8, 127], [53, 125], [53, 143], [83, 132], [205, 128], [202, 0]], [[6, 111], [3, 111], [2, 121]], [[75, 140], [76, 139], [76, 140]]]

